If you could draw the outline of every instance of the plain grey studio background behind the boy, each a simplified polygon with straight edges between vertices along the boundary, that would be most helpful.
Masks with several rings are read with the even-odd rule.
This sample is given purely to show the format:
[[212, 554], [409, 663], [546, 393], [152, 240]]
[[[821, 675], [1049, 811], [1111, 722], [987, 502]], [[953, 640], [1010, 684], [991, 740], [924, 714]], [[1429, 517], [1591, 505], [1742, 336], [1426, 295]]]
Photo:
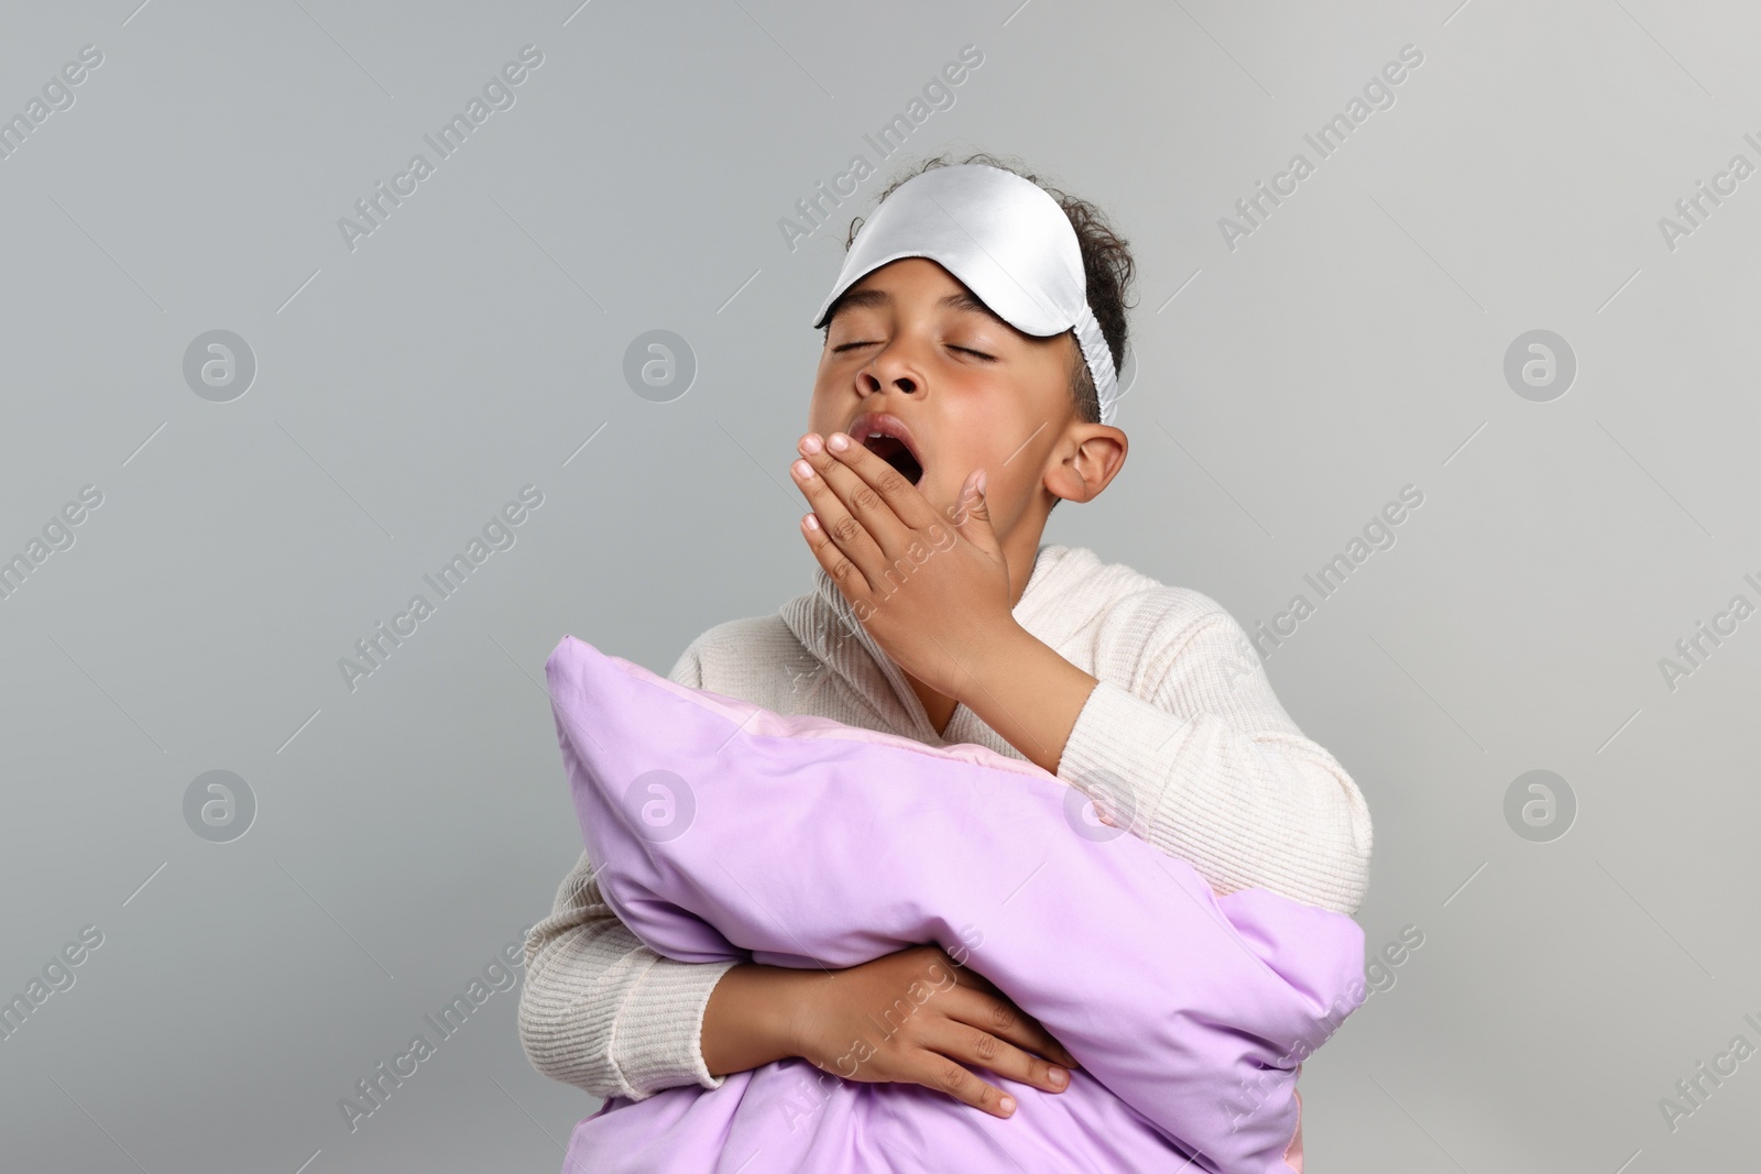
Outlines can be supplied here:
[[[1675, 250], [1657, 224], [1761, 162], [1752, 7], [136, 5], [14, 2], [0, 37], [7, 116], [104, 53], [0, 160], [0, 554], [104, 495], [0, 602], [0, 991], [104, 935], [0, 1040], [7, 1169], [558, 1169], [599, 1102], [527, 1065], [516, 991], [359, 1130], [336, 1102], [576, 857], [562, 634], [664, 672], [807, 590], [807, 319], [898, 164], [863, 134], [967, 44], [905, 155], [1016, 155], [1141, 264], [1131, 459], [1048, 542], [1254, 630], [1425, 495], [1268, 662], [1368, 797], [1370, 949], [1425, 935], [1305, 1067], [1314, 1169], [1752, 1153], [1761, 1061], [1673, 1132], [1659, 1098], [1761, 1044], [1761, 620], [1675, 690], [1659, 658], [1761, 602], [1761, 178]], [[525, 44], [516, 106], [350, 252], [336, 220]], [[1405, 44], [1395, 104], [1229, 250]], [[791, 252], [854, 153], [879, 174]], [[231, 403], [181, 375], [211, 329], [257, 359]], [[622, 375], [652, 329], [699, 364], [671, 403]], [[1502, 375], [1530, 329], [1578, 359], [1548, 403]], [[338, 658], [525, 484], [516, 544], [350, 692]], [[257, 799], [231, 843], [183, 818], [211, 769]], [[1506, 824], [1530, 769], [1564, 838]]]

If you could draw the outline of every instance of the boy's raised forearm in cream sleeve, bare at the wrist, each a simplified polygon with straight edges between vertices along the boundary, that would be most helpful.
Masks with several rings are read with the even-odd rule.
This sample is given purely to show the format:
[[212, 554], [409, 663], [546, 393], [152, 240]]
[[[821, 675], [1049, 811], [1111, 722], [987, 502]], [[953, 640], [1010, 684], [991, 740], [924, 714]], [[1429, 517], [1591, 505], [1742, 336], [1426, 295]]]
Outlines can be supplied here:
[[1368, 808], [1289, 722], [1264, 671], [1231, 667], [1236, 634], [1233, 620], [1197, 628], [1157, 704], [1102, 686], [1016, 625], [990, 641], [958, 699], [1030, 762], [1116, 801], [1134, 834], [1219, 892], [1261, 887], [1351, 914], [1368, 887]]

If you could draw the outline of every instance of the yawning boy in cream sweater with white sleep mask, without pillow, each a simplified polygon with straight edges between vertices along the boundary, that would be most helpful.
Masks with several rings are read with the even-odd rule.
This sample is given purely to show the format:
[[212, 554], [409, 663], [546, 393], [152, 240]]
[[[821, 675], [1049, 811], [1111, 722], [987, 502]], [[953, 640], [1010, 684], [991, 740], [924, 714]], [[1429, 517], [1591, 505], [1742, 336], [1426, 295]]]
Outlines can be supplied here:
[[[928, 160], [852, 238], [815, 319], [826, 338], [794, 465], [815, 590], [710, 628], [671, 679], [1028, 759], [1219, 892], [1354, 912], [1363, 796], [1284, 713], [1240, 625], [1197, 591], [1041, 546], [1057, 502], [1094, 500], [1125, 459], [1111, 426], [1125, 241], [988, 155]], [[937, 972], [954, 987], [875, 1038], [870, 1012], [916, 980], [940, 986]], [[546, 1075], [627, 1100], [785, 1056], [842, 1074], [859, 1042], [849, 1079], [1009, 1116], [1013, 1097], [974, 1067], [1048, 1093], [1067, 1086], [1057, 1065], [1074, 1067], [940, 947], [836, 972], [662, 958], [604, 903], [585, 852], [527, 942], [519, 1031]]]

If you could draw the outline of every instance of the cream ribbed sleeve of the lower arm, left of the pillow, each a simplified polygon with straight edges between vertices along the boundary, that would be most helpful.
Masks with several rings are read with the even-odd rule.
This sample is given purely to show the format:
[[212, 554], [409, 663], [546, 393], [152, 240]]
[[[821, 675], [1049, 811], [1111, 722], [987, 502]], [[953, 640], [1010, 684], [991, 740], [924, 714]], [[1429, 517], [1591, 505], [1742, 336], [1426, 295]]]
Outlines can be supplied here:
[[[669, 679], [703, 686], [696, 642]], [[646, 947], [599, 892], [586, 852], [527, 935], [519, 1046], [532, 1067], [593, 1097], [646, 1100], [664, 1088], [720, 1088], [703, 1063], [703, 1010], [738, 963], [682, 963]]]

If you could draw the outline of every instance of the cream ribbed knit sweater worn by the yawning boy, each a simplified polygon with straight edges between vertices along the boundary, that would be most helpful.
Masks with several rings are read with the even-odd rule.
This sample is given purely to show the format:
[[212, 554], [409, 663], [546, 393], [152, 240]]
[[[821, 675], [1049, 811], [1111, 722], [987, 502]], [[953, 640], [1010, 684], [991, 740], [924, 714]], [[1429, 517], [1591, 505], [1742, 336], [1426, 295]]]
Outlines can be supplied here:
[[[1041, 546], [1016, 621], [1090, 672], [1058, 778], [1104, 787], [1129, 831], [1190, 862], [1217, 892], [1263, 887], [1354, 914], [1370, 811], [1345, 769], [1278, 704], [1247, 634], [1215, 600], [1085, 547]], [[699, 635], [673, 681], [777, 713], [810, 713], [932, 746], [979, 743], [1023, 759], [958, 706], [937, 734], [910, 681], [831, 576], [777, 614]], [[599, 894], [586, 854], [527, 938], [519, 1042], [544, 1075], [593, 1097], [720, 1088], [703, 1063], [703, 1010], [736, 963], [682, 963], [643, 945]], [[1145, 917], [1153, 915], [1145, 910]], [[1048, 928], [1048, 933], [1055, 933]]]

